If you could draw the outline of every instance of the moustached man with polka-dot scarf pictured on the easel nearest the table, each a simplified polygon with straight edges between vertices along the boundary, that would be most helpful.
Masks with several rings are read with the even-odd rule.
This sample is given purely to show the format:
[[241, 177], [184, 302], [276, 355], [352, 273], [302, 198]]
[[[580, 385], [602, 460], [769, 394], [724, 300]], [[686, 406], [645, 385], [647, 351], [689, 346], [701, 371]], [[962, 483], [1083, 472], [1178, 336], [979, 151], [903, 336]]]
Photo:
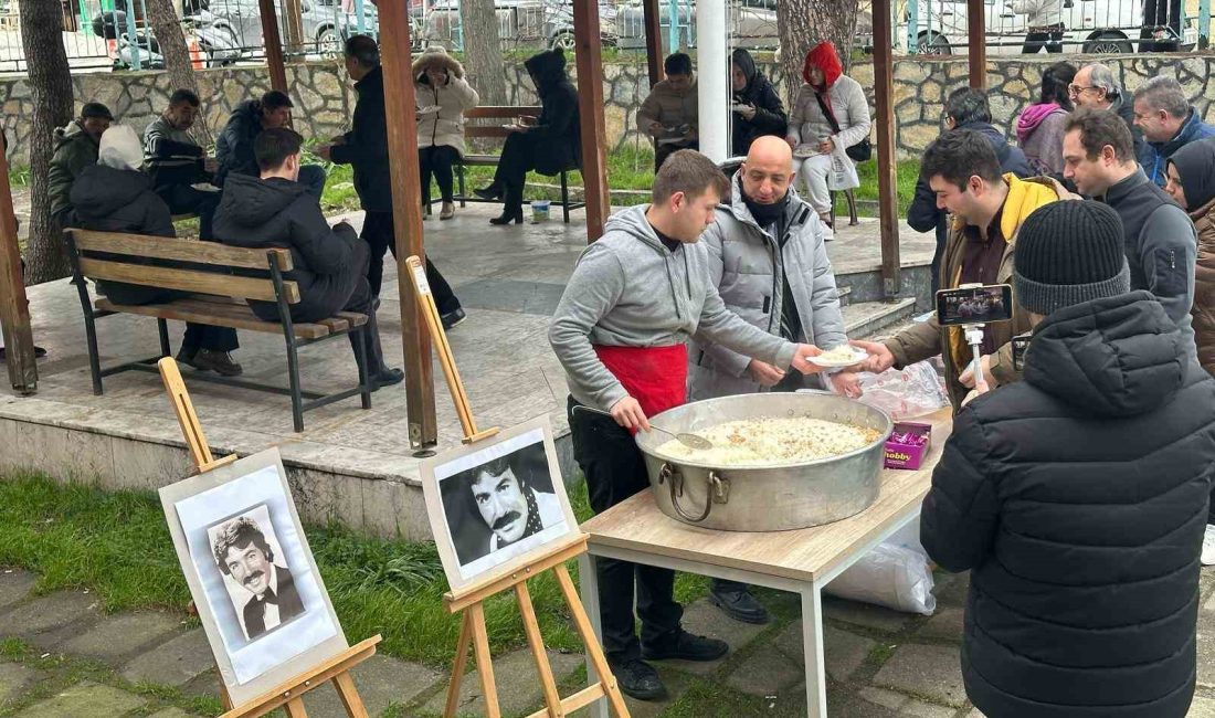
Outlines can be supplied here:
[[[474, 559], [491, 554], [561, 521], [555, 493], [538, 491], [520, 479], [508, 457], [499, 457], [460, 474], [475, 515], [490, 530]], [[468, 561], [464, 561], [468, 562]]]

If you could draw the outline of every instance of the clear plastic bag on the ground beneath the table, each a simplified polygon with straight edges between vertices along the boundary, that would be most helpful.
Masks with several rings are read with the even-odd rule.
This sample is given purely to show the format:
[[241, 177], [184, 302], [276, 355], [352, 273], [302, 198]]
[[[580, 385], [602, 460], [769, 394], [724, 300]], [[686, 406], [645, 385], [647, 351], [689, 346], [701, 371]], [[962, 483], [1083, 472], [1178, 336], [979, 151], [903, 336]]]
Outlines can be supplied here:
[[838, 598], [931, 616], [937, 610], [932, 587], [917, 519], [874, 547], [824, 590]]

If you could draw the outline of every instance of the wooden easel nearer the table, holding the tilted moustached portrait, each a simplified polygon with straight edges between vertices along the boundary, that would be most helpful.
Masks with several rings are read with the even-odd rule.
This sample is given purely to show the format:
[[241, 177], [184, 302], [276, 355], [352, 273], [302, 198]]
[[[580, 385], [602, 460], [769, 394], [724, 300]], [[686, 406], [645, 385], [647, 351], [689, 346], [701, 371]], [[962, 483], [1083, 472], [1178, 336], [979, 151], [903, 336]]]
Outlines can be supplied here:
[[[499, 430], [495, 428], [477, 431], [476, 422], [473, 419], [473, 411], [468, 403], [468, 395], [464, 392], [464, 384], [460, 381], [459, 372], [456, 368], [456, 360], [452, 357], [451, 345], [447, 344], [447, 334], [442, 329], [439, 318], [439, 307], [435, 298], [430, 293], [426, 282], [425, 270], [417, 256], [406, 260], [409, 266], [409, 278], [413, 288], [418, 293], [422, 305], [422, 313], [426, 326], [430, 327], [430, 335], [439, 352], [439, 362], [447, 378], [447, 386], [451, 389], [452, 401], [456, 403], [456, 413], [459, 417], [460, 426], [464, 429], [464, 443], [475, 443]], [[550, 547], [544, 554], [535, 558], [529, 565], [520, 567], [508, 576], [492, 578], [476, 583], [460, 590], [450, 592], [443, 597], [447, 611], [457, 614], [464, 611], [464, 621], [460, 624], [459, 640], [456, 648], [456, 663], [452, 666], [451, 684], [447, 686], [447, 703], [443, 708], [443, 718], [454, 718], [459, 707], [459, 688], [464, 680], [464, 669], [468, 667], [468, 651], [471, 644], [476, 656], [476, 668], [481, 677], [481, 692], [485, 696], [485, 712], [487, 718], [499, 718], [502, 711], [498, 706], [498, 689], [493, 679], [493, 663], [490, 656], [490, 637], [485, 629], [484, 603], [504, 592], [514, 590], [519, 600], [519, 612], [522, 615], [524, 631], [527, 634], [527, 645], [531, 648], [532, 657], [536, 660], [536, 669], [539, 673], [541, 688], [544, 692], [544, 708], [536, 711], [529, 718], [561, 718], [578, 708], [589, 706], [599, 699], [608, 699], [611, 712], [617, 718], [628, 718], [628, 708], [621, 696], [616, 678], [608, 667], [608, 658], [604, 657], [603, 648], [595, 637], [587, 617], [587, 611], [582, 606], [577, 590], [573, 588], [573, 580], [565, 567], [565, 561], [576, 559], [587, 550], [587, 537], [580, 535], [575, 538]], [[553, 677], [553, 667], [548, 662], [548, 652], [544, 650], [544, 639], [539, 633], [539, 623], [536, 622], [536, 609], [532, 606], [531, 594], [527, 592], [527, 580], [539, 576], [544, 571], [552, 570], [556, 575], [556, 581], [561, 586], [565, 603], [570, 606], [570, 614], [582, 635], [582, 641], [587, 648], [587, 655], [595, 668], [599, 680], [589, 686], [563, 699], [556, 691], [556, 680]]]

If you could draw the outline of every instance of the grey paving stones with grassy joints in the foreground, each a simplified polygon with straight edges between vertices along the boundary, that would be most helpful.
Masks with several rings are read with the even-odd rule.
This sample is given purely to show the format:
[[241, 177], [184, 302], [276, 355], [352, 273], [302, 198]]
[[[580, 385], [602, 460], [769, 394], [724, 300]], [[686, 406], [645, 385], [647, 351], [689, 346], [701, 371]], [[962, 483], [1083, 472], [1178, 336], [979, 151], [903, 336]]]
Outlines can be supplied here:
[[[183, 614], [103, 616], [85, 592], [36, 594], [36, 578], [0, 567], [0, 717], [194, 718], [219, 713], [210, 649], [202, 629], [192, 627]], [[959, 669], [968, 578], [937, 578], [938, 606], [931, 617], [840, 599], [824, 601], [832, 718], [982, 718], [966, 700]], [[1202, 586], [1198, 689], [1189, 717], [1215, 718], [1215, 571], [1204, 570]], [[774, 592], [761, 595], [774, 615], [773, 623], [763, 627], [731, 622], [705, 601], [688, 606], [688, 629], [730, 640], [730, 654], [708, 665], [660, 665], [671, 699], [629, 700], [632, 714], [652, 718], [673, 708], [671, 713], [679, 716], [804, 716], [798, 601]], [[583, 679], [582, 657], [552, 652], [549, 658], [564, 692], [576, 691]], [[526, 649], [497, 656], [495, 673], [504, 716], [525, 716], [541, 707]], [[439, 716], [446, 680], [435, 667], [383, 655], [355, 672], [371, 714], [382, 718]], [[460, 716], [482, 714], [475, 673], [460, 696]], [[345, 716], [327, 686], [307, 694], [305, 703], [312, 718]], [[586, 709], [576, 713], [587, 714]]]

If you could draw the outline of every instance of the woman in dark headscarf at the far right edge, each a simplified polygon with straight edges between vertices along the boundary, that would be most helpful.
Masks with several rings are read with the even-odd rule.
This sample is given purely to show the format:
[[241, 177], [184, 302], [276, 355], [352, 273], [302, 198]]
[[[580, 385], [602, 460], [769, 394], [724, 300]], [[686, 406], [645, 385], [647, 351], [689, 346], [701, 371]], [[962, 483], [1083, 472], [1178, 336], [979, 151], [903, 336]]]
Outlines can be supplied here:
[[1172, 196], [1198, 230], [1194, 266], [1194, 343], [1198, 363], [1215, 375], [1215, 140], [1191, 142], [1172, 153], [1164, 191]]

